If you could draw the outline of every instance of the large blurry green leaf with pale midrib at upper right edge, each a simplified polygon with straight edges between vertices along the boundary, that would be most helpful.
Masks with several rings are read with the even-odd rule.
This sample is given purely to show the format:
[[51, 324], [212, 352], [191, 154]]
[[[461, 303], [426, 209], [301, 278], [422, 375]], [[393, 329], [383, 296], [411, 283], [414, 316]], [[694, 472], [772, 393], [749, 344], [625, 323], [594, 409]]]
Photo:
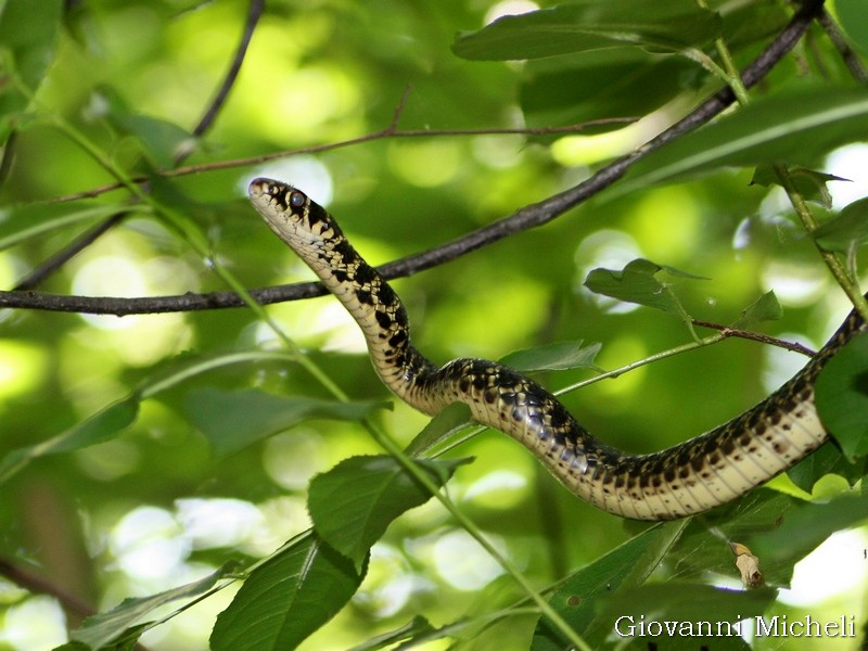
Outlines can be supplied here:
[[868, 90], [802, 88], [761, 98], [666, 144], [628, 171], [618, 193], [726, 166], [804, 163], [868, 138]]

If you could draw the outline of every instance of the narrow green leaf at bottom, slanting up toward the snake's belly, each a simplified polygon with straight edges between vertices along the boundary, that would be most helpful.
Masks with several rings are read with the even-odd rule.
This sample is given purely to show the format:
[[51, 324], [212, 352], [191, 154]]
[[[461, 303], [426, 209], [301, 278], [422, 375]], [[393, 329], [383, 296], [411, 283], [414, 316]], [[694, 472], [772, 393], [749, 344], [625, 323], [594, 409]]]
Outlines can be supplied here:
[[[605, 637], [611, 622], [597, 615], [598, 604], [615, 590], [641, 585], [666, 556], [687, 527], [689, 519], [655, 524], [630, 538], [560, 584], [549, 603], [567, 624], [586, 639]], [[534, 633], [533, 651], [563, 649], [560, 635], [546, 621]]]

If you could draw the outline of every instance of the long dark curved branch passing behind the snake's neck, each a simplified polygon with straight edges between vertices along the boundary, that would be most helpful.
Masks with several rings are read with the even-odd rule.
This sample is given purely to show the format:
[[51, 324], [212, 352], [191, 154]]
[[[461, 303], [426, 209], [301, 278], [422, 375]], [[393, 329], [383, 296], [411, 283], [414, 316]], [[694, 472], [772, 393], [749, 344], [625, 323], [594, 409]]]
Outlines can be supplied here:
[[[793, 48], [812, 21], [822, 9], [822, 0], [808, 0], [793, 15], [793, 18], [774, 41], [742, 73], [745, 87], [752, 87]], [[380, 267], [386, 279], [411, 276], [418, 271], [444, 264], [493, 244], [513, 233], [541, 226], [563, 213], [598, 194], [617, 181], [637, 161], [663, 144], [705, 124], [735, 101], [728, 88], [712, 95], [686, 117], [648, 141], [638, 150], [607, 165], [595, 175], [559, 194], [539, 203], [519, 209], [513, 215], [472, 231], [457, 240], [447, 242], [429, 251], [394, 260]], [[252, 290], [251, 294], [261, 304], [297, 301], [326, 294], [319, 283], [297, 283]], [[34, 292], [0, 292], [0, 307], [44, 309], [54, 311], [75, 311], [87, 314], [131, 315], [169, 311], [192, 311], [242, 307], [244, 303], [232, 292], [210, 294], [183, 294], [181, 296], [156, 296], [141, 298], [113, 298], [88, 296], [58, 296]]]

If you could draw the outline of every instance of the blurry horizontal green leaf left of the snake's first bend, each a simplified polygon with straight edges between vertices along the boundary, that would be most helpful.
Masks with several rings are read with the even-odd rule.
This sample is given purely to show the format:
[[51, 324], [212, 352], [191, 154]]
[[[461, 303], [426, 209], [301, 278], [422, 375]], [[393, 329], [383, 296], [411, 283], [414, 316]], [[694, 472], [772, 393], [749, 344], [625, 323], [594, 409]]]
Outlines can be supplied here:
[[311, 418], [358, 421], [383, 406], [372, 400], [340, 403], [255, 390], [202, 388], [187, 395], [184, 412], [214, 454], [225, 457]]

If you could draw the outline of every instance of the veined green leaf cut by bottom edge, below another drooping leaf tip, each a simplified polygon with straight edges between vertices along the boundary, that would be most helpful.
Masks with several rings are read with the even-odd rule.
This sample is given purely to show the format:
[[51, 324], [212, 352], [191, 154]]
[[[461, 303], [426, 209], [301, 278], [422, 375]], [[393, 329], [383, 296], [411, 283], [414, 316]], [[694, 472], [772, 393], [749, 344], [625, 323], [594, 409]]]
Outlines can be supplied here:
[[308, 532], [251, 572], [217, 616], [212, 651], [295, 649], [349, 601], [363, 575]]

